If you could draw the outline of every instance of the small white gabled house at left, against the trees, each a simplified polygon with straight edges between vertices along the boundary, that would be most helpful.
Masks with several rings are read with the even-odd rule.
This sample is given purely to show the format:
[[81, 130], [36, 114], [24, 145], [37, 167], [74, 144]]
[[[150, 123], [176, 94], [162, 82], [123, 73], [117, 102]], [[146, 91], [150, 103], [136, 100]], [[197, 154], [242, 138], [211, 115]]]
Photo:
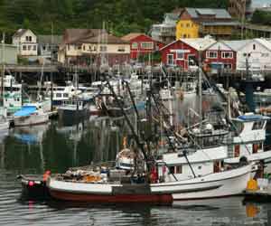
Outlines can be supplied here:
[[13, 44], [21, 56], [37, 56], [37, 36], [29, 29], [19, 29], [13, 36]]

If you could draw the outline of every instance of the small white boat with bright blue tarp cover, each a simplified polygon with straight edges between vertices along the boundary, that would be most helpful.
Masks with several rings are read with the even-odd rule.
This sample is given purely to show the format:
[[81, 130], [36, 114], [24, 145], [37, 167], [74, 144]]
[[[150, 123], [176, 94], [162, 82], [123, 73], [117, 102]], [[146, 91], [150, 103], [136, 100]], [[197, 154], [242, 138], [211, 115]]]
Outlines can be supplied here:
[[40, 103], [28, 103], [14, 113], [14, 127], [33, 126], [49, 121], [49, 113], [44, 112]]

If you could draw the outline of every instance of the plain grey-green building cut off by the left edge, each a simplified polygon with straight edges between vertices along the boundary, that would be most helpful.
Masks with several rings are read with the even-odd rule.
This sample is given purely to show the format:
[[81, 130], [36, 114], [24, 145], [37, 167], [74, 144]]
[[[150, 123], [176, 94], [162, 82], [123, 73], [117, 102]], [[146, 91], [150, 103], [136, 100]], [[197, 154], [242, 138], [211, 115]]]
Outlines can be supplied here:
[[18, 47], [12, 44], [0, 44], [0, 63], [17, 64], [18, 63]]

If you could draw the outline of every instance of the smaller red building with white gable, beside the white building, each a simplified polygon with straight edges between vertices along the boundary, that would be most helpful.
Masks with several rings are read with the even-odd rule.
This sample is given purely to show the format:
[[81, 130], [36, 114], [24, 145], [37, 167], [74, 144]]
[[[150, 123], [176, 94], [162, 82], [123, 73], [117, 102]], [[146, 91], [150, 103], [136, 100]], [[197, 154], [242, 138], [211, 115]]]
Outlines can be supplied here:
[[236, 71], [237, 52], [224, 42], [212, 44], [204, 52], [204, 57], [204, 63], [210, 71], [217, 72], [219, 69]]

